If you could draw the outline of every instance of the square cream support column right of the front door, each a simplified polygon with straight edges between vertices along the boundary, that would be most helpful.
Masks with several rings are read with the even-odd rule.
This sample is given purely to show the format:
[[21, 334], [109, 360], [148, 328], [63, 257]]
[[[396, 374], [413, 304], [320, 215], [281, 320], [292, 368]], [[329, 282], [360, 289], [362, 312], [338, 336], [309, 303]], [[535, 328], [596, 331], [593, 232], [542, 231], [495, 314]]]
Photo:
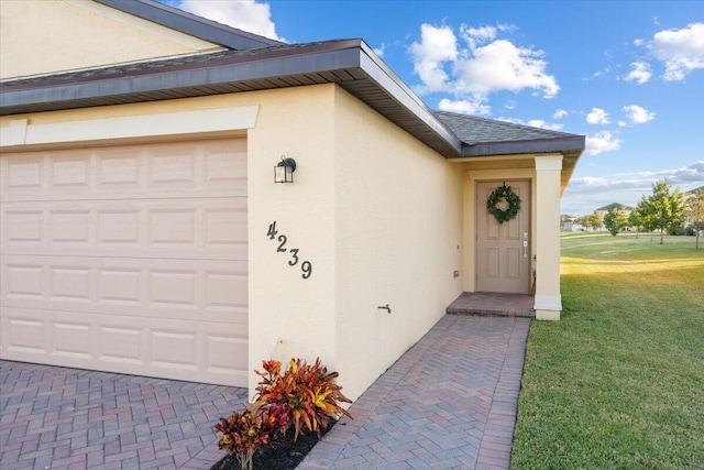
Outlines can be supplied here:
[[559, 320], [560, 172], [562, 155], [536, 156], [536, 318]]

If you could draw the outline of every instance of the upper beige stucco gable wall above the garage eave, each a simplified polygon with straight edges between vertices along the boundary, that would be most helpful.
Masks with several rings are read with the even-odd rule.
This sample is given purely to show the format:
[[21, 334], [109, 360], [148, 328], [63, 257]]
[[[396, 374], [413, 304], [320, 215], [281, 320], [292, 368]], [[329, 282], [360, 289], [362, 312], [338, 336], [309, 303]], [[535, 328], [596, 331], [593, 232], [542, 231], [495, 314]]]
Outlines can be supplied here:
[[89, 0], [0, 1], [0, 79], [221, 48]]

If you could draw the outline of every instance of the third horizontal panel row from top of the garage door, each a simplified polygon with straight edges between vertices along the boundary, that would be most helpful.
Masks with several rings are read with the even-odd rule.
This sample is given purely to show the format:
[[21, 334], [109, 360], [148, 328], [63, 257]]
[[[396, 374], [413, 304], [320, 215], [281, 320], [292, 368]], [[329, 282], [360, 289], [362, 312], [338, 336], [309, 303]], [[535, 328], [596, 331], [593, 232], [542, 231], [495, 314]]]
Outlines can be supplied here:
[[246, 325], [244, 261], [3, 255], [2, 304]]

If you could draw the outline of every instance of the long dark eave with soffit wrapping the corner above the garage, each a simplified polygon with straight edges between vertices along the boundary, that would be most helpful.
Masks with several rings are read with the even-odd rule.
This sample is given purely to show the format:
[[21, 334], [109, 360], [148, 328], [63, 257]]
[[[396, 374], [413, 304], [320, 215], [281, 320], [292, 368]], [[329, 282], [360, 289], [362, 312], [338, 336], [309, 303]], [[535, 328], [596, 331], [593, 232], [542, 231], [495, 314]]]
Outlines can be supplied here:
[[0, 116], [336, 83], [446, 157], [462, 143], [361, 40], [109, 76], [0, 84]]

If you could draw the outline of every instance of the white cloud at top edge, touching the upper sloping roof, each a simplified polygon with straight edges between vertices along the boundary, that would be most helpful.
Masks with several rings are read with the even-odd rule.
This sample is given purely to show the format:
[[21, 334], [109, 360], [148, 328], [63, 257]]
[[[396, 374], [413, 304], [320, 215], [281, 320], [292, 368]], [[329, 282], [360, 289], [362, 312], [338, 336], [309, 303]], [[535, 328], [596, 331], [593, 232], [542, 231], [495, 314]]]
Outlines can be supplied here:
[[272, 21], [270, 4], [266, 2], [257, 3], [255, 0], [182, 0], [176, 2], [175, 7], [218, 23], [285, 42], [276, 34], [276, 25]]

